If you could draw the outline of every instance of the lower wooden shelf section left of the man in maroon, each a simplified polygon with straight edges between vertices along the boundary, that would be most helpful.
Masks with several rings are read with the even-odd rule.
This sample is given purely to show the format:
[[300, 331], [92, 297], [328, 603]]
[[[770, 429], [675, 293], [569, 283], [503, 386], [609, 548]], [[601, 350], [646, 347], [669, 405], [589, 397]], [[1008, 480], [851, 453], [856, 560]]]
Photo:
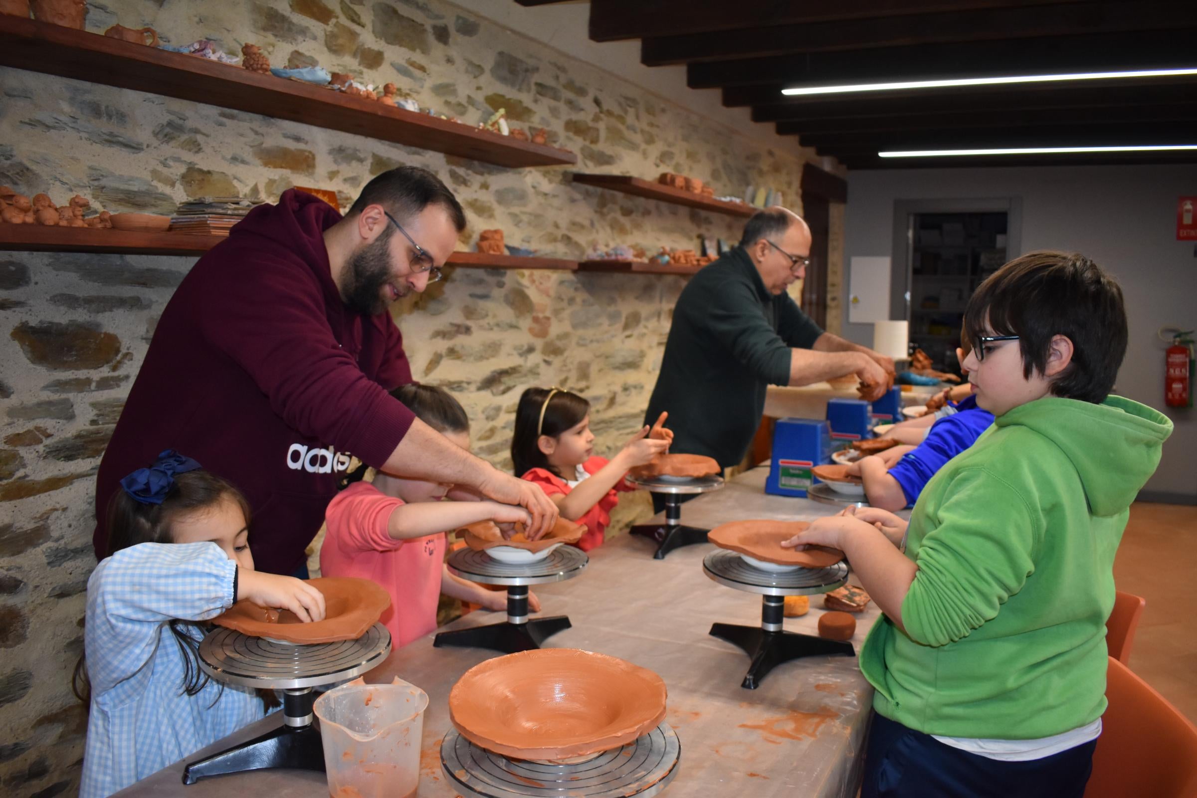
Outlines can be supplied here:
[[223, 236], [142, 233], [91, 227], [0, 224], [0, 250], [25, 252], [117, 252], [121, 255], [203, 255]]

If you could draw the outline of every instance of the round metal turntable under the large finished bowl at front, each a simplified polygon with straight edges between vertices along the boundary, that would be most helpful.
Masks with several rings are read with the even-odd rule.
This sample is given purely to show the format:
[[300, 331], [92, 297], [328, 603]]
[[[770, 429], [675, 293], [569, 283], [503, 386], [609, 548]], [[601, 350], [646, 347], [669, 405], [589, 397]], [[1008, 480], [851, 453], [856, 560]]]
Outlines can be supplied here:
[[678, 774], [681, 743], [662, 723], [631, 743], [577, 765], [509, 760], [450, 730], [440, 743], [440, 766], [452, 788], [469, 798], [618, 798], [655, 796]]

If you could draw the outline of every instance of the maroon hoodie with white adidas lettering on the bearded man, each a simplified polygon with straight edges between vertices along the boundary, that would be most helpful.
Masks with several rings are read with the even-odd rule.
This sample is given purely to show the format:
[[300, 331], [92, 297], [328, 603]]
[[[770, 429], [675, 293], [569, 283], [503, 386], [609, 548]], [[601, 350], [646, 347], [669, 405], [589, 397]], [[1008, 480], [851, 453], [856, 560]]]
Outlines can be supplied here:
[[412, 382], [387, 312], [341, 301], [322, 233], [340, 219], [296, 190], [255, 208], [166, 304], [96, 481], [96, 556], [120, 480], [177, 449], [254, 508], [260, 571], [292, 573], [352, 452], [382, 465], [414, 418], [388, 391]]

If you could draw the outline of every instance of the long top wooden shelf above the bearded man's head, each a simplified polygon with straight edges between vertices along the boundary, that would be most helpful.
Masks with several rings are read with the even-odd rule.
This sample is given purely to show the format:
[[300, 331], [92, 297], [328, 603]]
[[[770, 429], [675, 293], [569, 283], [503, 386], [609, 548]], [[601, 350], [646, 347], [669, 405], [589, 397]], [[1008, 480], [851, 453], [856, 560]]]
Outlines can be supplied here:
[[557, 166], [577, 156], [427, 114], [87, 31], [0, 16], [0, 65], [273, 116], [499, 166]]

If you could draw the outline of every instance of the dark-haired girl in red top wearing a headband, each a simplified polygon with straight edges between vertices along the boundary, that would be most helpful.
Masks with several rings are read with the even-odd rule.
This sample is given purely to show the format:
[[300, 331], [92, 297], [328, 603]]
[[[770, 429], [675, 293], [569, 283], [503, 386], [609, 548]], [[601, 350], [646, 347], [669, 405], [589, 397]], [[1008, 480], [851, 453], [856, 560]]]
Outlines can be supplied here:
[[559, 388], [529, 388], [516, 409], [511, 462], [516, 476], [539, 485], [561, 518], [585, 525], [576, 546], [589, 552], [602, 544], [616, 492], [634, 489], [624, 475], [668, 451], [668, 434], [649, 437], [645, 426], [608, 462], [594, 453], [590, 402]]

